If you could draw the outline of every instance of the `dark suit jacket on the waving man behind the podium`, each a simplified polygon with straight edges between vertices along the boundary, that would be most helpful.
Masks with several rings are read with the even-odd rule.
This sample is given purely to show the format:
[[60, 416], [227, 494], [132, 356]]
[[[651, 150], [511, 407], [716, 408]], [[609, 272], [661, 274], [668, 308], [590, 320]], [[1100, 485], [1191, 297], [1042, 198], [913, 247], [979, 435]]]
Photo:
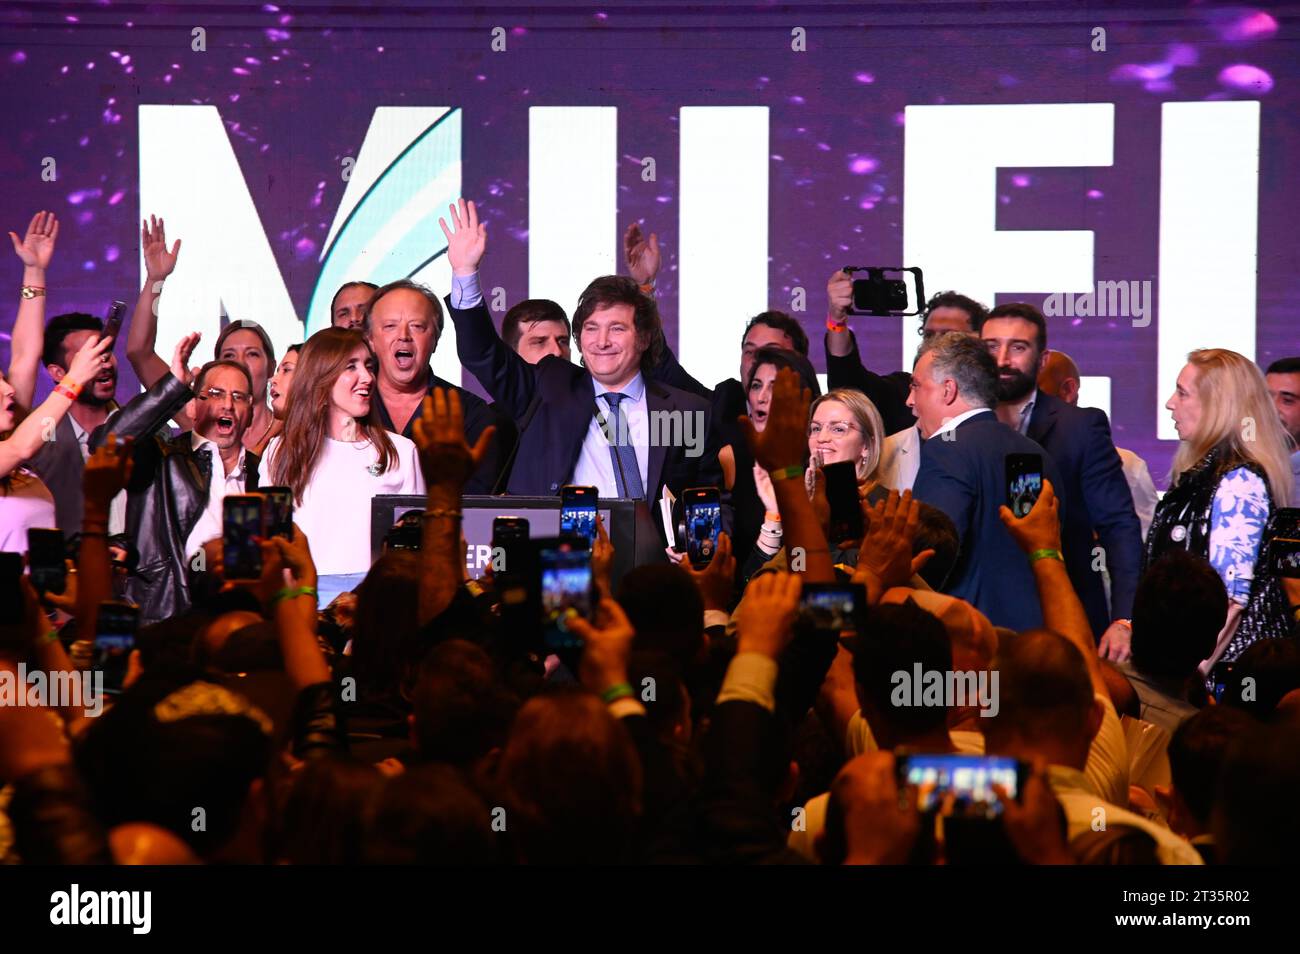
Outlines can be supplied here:
[[[520, 357], [497, 334], [488, 307], [452, 308], [447, 312], [456, 326], [456, 354], [500, 408], [519, 421], [519, 450], [510, 474], [508, 493], [533, 496], [558, 494], [573, 476], [592, 415], [595, 387], [590, 372], [563, 357], [549, 355], [536, 365]], [[686, 487], [723, 487], [718, 463], [718, 433], [712, 426], [708, 400], [670, 387], [644, 376], [650, 413], [680, 411], [697, 413], [703, 426], [702, 454], [688, 456], [684, 446], [651, 446], [647, 461], [646, 496], [656, 502], [663, 487], [681, 496]], [[723, 490], [723, 524], [731, 526], [731, 508]], [[655, 520], [658, 526], [659, 521]]]

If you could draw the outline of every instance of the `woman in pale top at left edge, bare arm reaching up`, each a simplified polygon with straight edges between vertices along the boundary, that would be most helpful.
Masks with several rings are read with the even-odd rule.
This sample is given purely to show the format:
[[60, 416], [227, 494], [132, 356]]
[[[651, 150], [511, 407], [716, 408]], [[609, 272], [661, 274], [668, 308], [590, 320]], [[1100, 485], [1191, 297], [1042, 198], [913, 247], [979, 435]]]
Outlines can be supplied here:
[[17, 393], [0, 374], [0, 551], [26, 552], [29, 529], [58, 526], [49, 487], [22, 464], [53, 438], [55, 425], [77, 400], [82, 385], [99, 374], [112, 346], [112, 338], [90, 338], [73, 356], [68, 374], [22, 424], [17, 424]]

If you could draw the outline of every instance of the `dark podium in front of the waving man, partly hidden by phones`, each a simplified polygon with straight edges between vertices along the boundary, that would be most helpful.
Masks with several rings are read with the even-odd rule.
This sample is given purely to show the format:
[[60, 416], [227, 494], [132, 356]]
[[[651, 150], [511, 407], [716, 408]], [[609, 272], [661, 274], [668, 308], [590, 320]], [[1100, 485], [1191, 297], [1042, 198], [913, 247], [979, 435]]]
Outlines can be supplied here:
[[[370, 563], [380, 559], [389, 529], [404, 513], [424, 509], [425, 503], [422, 494], [380, 494], [370, 499]], [[495, 517], [524, 517], [533, 538], [558, 537], [560, 532], [558, 496], [465, 496], [462, 511], [462, 530], [469, 547], [465, 568], [472, 580], [491, 564], [491, 521]], [[601, 498], [597, 512], [614, 545], [611, 577], [615, 589], [633, 567], [667, 563], [663, 535], [645, 500]]]

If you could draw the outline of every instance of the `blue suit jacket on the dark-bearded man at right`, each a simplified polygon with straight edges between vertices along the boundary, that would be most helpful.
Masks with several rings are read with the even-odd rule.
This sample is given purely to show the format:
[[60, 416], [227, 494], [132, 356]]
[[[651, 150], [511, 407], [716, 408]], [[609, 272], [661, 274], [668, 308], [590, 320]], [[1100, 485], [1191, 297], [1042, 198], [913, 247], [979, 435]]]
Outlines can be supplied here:
[[[1074, 407], [1039, 391], [1028, 437], [1061, 468], [1063, 483], [1053, 486], [1070, 504], [1061, 526], [1065, 563], [1092, 632], [1100, 637], [1110, 620], [1132, 616], [1143, 559], [1141, 521], [1110, 439], [1110, 422], [1104, 411]], [[1092, 552], [1098, 542], [1110, 573], [1109, 610], [1101, 564]], [[1095, 564], [1098, 569], [1093, 569]]]

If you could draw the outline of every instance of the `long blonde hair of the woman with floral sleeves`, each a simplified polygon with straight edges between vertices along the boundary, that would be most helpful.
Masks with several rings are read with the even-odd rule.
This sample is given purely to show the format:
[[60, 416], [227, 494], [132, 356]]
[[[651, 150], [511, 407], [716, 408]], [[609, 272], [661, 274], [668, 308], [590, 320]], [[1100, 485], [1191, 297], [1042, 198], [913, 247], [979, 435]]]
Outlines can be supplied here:
[[[1273, 499], [1282, 506], [1291, 499], [1291, 450], [1264, 373], [1254, 361], [1226, 348], [1201, 348], [1187, 356], [1196, 368], [1196, 395], [1201, 420], [1191, 441], [1182, 441], [1170, 468], [1171, 482], [1197, 464], [1218, 445], [1225, 445], [1225, 467], [1253, 461], [1264, 471]], [[1245, 422], [1252, 435], [1245, 435]]]

